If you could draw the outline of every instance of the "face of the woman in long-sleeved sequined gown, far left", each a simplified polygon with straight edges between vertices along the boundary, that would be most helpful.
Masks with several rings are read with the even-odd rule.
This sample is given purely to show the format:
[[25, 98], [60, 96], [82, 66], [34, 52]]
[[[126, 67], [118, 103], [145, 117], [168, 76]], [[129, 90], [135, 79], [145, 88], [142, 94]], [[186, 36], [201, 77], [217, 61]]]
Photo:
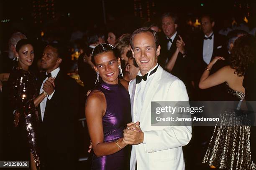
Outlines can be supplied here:
[[23, 45], [16, 55], [19, 57], [21, 67], [31, 66], [34, 60], [34, 48], [30, 44]]

